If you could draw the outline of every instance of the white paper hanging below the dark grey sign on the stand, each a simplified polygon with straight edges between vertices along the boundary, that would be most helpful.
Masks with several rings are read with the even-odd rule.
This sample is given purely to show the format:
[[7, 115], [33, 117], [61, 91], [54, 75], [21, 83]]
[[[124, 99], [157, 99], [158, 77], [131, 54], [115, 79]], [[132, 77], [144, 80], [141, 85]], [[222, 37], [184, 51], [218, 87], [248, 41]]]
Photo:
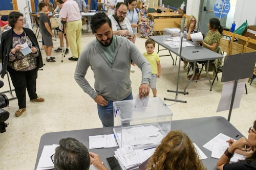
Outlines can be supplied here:
[[[234, 96], [234, 102], [232, 109], [236, 109], [240, 107], [240, 102], [242, 95], [244, 93], [244, 87], [245, 87], [246, 79], [238, 80], [236, 95]], [[221, 93], [221, 100], [219, 102], [217, 112], [229, 110], [232, 94], [233, 94], [233, 88], [234, 88], [234, 81], [225, 82], [222, 87], [222, 93]]]

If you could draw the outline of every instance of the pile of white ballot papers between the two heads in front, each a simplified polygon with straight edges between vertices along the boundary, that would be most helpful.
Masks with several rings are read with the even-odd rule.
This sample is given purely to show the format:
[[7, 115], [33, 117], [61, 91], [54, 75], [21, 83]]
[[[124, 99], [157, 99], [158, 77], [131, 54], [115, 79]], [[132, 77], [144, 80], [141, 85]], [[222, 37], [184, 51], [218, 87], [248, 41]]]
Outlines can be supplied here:
[[156, 147], [133, 150], [131, 146], [126, 146], [117, 149], [115, 151], [115, 157], [122, 169], [136, 169], [142, 162], [151, 157], [155, 150]]

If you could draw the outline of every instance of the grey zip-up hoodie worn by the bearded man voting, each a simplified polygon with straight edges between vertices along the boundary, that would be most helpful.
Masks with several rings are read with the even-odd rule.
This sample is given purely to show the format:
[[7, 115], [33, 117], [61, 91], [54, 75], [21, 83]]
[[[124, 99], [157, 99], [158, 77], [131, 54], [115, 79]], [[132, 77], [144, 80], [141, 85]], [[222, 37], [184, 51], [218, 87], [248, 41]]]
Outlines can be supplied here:
[[[127, 38], [116, 36], [116, 39], [112, 67], [104, 56], [102, 48], [99, 46], [100, 44], [97, 43], [97, 39], [91, 41], [82, 50], [77, 61], [75, 80], [92, 99], [95, 99], [98, 94], [110, 101], [125, 99], [132, 92], [130, 80], [131, 60], [142, 71], [141, 84], [150, 84], [151, 66], [138, 48]], [[89, 66], [91, 66], [94, 73], [95, 90], [84, 77]]]

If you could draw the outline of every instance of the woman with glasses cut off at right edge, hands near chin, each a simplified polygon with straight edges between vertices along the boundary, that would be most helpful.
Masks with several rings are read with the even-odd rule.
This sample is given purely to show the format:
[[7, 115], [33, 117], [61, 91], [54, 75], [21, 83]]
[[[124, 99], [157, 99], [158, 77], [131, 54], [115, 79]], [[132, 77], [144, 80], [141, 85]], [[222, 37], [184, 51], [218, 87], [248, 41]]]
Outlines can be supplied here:
[[[248, 139], [245, 137], [237, 141], [233, 139], [228, 140], [229, 148], [217, 162], [219, 170], [255, 170], [256, 169], [256, 120], [254, 120], [253, 127], [248, 130]], [[236, 163], [229, 163], [230, 158], [233, 157], [234, 152], [248, 155], [245, 160], [240, 160]]]

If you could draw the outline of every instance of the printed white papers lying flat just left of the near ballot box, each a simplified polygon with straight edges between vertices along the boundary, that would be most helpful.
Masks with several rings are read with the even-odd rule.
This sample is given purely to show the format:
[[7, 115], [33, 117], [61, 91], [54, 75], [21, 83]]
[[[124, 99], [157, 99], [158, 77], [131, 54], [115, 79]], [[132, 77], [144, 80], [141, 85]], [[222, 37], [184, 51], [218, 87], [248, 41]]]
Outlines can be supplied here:
[[117, 147], [114, 134], [89, 136], [89, 149]]

